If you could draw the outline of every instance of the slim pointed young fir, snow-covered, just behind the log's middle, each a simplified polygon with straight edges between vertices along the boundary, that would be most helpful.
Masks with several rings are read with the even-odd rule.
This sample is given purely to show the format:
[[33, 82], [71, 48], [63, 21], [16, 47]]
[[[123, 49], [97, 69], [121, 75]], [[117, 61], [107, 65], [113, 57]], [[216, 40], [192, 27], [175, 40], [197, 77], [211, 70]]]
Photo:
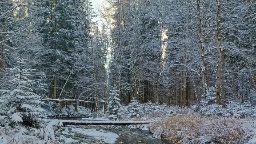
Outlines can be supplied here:
[[110, 120], [118, 120], [120, 119], [120, 99], [118, 98], [118, 90], [116, 87], [113, 87], [110, 96], [108, 97], [108, 107], [107, 114]]

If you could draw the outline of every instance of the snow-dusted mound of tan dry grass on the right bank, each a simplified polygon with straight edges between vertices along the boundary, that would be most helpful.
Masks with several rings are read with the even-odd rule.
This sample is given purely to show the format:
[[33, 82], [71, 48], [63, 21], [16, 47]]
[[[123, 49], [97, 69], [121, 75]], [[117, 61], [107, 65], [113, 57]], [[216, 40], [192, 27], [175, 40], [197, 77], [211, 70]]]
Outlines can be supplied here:
[[172, 144], [243, 144], [239, 119], [199, 114], [180, 114], [151, 124], [154, 136]]

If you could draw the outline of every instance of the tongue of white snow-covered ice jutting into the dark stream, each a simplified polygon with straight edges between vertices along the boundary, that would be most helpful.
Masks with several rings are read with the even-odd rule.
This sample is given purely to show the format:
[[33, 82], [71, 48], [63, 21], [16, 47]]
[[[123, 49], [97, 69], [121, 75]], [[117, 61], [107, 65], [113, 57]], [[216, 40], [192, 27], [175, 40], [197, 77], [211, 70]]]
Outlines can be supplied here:
[[114, 144], [118, 135], [113, 132], [106, 132], [104, 130], [97, 131], [95, 128], [83, 129], [83, 128], [74, 128], [72, 132], [82, 134], [84, 136], [94, 137], [96, 140], [102, 140], [107, 144]]

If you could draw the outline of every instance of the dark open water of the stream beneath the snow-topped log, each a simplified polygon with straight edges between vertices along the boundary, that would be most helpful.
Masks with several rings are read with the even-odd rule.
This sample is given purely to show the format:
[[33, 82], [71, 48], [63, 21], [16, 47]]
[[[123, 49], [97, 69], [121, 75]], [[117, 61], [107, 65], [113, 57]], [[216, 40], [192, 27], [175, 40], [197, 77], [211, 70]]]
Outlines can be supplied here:
[[128, 128], [124, 125], [67, 125], [62, 131], [57, 132], [56, 136], [59, 137], [60, 135], [63, 135], [67, 138], [78, 140], [72, 144], [108, 144], [104, 143], [104, 140], [96, 140], [92, 136], [86, 136], [76, 132], [73, 133], [76, 129], [84, 129], [84, 131], [94, 129], [100, 132], [116, 133], [118, 138], [115, 144], [167, 144], [154, 138], [153, 134], [148, 130]]

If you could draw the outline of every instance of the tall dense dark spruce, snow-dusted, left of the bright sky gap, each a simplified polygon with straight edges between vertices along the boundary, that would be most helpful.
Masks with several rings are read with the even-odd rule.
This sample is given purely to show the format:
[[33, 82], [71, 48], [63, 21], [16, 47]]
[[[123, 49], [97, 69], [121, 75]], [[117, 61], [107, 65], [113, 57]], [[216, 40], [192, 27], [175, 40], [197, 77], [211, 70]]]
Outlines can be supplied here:
[[[51, 69], [48, 71], [50, 98], [77, 94], [80, 76], [83, 71], [90, 70], [88, 11], [91, 9], [86, 1], [46, 0], [40, 4], [39, 15], [43, 17], [40, 32], [44, 43], [49, 46], [40, 54], [44, 61], [41, 67], [46, 72]], [[88, 68], [84, 64], [89, 64]]]

